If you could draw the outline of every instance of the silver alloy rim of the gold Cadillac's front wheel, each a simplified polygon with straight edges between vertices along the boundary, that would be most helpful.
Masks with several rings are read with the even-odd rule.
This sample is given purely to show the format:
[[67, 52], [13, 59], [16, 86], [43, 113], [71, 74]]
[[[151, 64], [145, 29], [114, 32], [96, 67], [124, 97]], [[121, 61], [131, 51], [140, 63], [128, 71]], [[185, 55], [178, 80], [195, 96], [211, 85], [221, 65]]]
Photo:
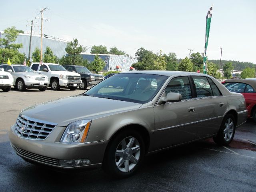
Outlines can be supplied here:
[[140, 158], [140, 143], [134, 137], [124, 138], [116, 148], [115, 160], [117, 168], [122, 172], [132, 170]]

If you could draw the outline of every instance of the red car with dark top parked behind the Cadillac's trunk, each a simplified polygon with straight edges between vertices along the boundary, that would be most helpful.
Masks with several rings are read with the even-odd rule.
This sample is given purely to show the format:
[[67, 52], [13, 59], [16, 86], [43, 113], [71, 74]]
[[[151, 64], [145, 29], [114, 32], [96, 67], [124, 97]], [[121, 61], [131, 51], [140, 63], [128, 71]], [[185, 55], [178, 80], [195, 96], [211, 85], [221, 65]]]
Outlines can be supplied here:
[[244, 95], [248, 117], [256, 122], [256, 80], [253, 79], [228, 79], [222, 84], [230, 91]]

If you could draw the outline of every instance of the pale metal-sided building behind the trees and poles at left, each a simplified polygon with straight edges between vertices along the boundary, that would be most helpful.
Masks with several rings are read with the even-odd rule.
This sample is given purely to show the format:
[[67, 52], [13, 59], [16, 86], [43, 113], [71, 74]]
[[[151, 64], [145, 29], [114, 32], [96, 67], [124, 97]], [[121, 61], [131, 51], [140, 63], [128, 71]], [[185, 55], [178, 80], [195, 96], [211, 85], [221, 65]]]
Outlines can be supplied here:
[[[0, 38], [4, 38], [4, 33], [0, 32]], [[29, 39], [30, 34], [19, 34], [17, 39], [13, 43], [22, 43], [23, 47], [19, 49], [20, 53], [25, 53], [26, 57], [28, 57], [28, 49], [29, 49]], [[52, 38], [44, 38], [43, 37], [43, 54], [46, 50], [46, 47], [50, 47], [53, 54], [56, 55], [58, 58], [66, 55], [65, 48], [67, 47], [67, 43], [59, 40], [55, 40]], [[36, 49], [36, 47], [41, 47], [41, 37], [40, 35], [33, 35], [31, 40], [31, 55]]]

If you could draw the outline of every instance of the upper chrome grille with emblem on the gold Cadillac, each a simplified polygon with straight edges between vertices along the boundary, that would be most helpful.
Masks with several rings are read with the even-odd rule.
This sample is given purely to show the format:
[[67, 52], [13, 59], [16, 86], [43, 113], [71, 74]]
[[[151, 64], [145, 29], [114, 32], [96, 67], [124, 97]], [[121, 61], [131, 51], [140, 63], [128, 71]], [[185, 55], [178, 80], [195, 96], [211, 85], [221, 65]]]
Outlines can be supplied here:
[[44, 140], [52, 132], [54, 127], [54, 125], [29, 121], [18, 116], [15, 124], [15, 133], [20, 138]]

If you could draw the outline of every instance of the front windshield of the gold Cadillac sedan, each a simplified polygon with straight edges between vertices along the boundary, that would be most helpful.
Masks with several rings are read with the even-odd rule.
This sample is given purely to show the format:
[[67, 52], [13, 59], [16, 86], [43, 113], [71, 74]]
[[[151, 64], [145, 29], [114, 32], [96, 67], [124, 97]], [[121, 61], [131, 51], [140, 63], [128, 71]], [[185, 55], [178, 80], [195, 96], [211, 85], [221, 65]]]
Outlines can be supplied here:
[[153, 74], [119, 73], [90, 88], [84, 95], [143, 104], [154, 98], [167, 78]]

